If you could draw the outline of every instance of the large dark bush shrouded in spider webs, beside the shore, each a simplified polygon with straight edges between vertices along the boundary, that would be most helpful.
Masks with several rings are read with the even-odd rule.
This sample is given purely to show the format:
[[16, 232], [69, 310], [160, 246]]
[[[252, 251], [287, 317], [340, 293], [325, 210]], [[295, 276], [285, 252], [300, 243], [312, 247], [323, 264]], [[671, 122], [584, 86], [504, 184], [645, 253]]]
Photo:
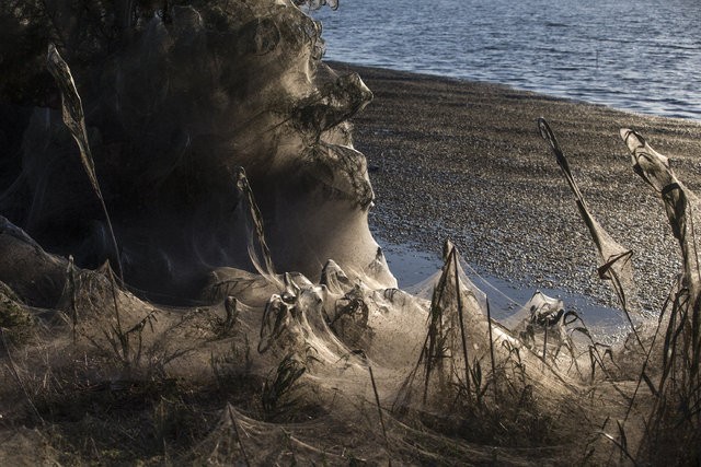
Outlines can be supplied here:
[[[126, 281], [182, 296], [212, 269], [253, 269], [238, 167], [280, 271], [315, 278], [333, 258], [361, 273], [377, 256], [374, 194], [347, 119], [372, 94], [321, 63], [320, 25], [291, 1], [200, 3], [142, 21], [74, 73]], [[0, 206], [80, 266], [117, 259], [59, 112], [34, 112]]]

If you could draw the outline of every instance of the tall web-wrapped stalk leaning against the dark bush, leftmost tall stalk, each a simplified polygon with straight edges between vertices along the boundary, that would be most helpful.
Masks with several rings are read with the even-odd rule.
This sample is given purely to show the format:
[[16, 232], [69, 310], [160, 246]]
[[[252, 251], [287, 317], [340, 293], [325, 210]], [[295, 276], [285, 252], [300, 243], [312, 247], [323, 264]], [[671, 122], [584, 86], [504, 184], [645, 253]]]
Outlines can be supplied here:
[[66, 63], [66, 61], [61, 58], [54, 44], [49, 44], [48, 46], [47, 67], [61, 93], [64, 122], [78, 143], [78, 149], [80, 150], [80, 160], [82, 162], [83, 168], [85, 170], [85, 174], [88, 174], [90, 185], [92, 186], [95, 196], [100, 200], [102, 211], [105, 215], [105, 222], [107, 223], [107, 230], [110, 231], [110, 237], [112, 241], [112, 248], [114, 249], [113, 253], [115, 255], [116, 265], [118, 268], [117, 272], [119, 275], [120, 282], [124, 283], [124, 275], [122, 270], [122, 260], [119, 258], [117, 240], [114, 235], [112, 220], [110, 219], [110, 214], [107, 213], [107, 207], [105, 206], [102, 190], [100, 189], [100, 184], [97, 183], [97, 175], [95, 174], [95, 163], [90, 151], [90, 143], [88, 142], [88, 130], [85, 129], [83, 104], [80, 98], [80, 94], [78, 94], [78, 90], [76, 89], [76, 82], [73, 81], [73, 75], [70, 72], [70, 68], [68, 67], [68, 63]]

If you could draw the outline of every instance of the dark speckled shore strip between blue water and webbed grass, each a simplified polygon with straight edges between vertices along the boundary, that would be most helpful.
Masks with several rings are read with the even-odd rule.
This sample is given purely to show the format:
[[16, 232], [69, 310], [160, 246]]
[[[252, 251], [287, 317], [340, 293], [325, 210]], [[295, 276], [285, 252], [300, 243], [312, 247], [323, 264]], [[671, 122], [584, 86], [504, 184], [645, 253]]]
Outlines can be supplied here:
[[643, 304], [659, 310], [679, 267], [676, 243], [660, 201], [631, 168], [619, 128], [639, 130], [699, 190], [701, 124], [501, 85], [332, 67], [357, 71], [375, 93], [354, 124], [370, 166], [370, 223], [380, 243], [437, 257], [450, 238], [480, 273], [613, 304], [574, 198], [538, 133], [543, 116], [594, 215], [634, 250]]

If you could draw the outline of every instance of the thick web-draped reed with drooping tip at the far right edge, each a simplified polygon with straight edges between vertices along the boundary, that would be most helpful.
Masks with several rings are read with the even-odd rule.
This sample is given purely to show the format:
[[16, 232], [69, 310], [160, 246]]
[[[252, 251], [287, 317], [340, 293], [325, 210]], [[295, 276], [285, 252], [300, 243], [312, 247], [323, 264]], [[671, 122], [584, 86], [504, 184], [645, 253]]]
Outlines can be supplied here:
[[[682, 256], [682, 273], [658, 349], [662, 369], [657, 387], [646, 372], [647, 362], [640, 376], [657, 396], [641, 443], [641, 457], [654, 464], [668, 462], [667, 456], [674, 455], [679, 464], [698, 464], [699, 452], [691, 446], [701, 440], [701, 417], [694, 409], [701, 405], [701, 271], [696, 236], [701, 201], [677, 179], [669, 160], [641, 135], [623, 128], [620, 136], [631, 153], [633, 170], [662, 198]], [[664, 310], [658, 328], [663, 315]]]

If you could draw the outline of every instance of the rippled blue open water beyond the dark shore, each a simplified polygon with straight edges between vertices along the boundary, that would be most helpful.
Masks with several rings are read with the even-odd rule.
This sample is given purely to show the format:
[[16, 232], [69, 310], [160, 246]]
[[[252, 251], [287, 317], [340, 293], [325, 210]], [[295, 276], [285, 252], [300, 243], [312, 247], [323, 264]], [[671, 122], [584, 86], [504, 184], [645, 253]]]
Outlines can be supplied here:
[[341, 0], [326, 59], [701, 120], [699, 0]]

